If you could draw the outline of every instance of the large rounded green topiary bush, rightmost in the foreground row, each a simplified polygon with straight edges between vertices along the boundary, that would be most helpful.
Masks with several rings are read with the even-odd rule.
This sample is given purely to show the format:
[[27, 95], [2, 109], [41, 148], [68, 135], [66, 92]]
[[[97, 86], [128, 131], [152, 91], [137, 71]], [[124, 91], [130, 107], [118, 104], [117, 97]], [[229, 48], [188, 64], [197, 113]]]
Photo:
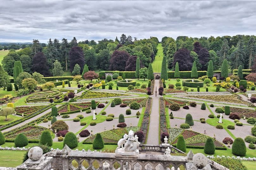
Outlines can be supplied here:
[[242, 138], [235, 138], [232, 145], [232, 154], [236, 156], [245, 156], [246, 154], [246, 145]]

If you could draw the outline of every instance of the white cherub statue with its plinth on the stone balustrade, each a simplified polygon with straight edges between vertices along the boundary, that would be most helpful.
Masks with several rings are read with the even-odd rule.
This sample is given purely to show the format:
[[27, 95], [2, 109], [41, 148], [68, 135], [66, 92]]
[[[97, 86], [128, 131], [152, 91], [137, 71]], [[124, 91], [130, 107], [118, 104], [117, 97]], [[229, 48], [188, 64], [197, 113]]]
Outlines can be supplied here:
[[[123, 144], [125, 146], [123, 147]], [[129, 131], [129, 134], [125, 134], [124, 138], [118, 141], [118, 147], [116, 149], [116, 154], [119, 155], [138, 155], [139, 149], [137, 147], [140, 145], [138, 142], [137, 135], [134, 136], [134, 132], [132, 130]]]

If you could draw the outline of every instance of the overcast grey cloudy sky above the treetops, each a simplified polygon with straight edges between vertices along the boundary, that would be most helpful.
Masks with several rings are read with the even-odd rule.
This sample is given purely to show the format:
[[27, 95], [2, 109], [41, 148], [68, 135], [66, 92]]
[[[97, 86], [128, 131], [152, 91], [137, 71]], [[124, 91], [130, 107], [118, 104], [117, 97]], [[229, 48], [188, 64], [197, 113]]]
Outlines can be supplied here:
[[1, 0], [0, 42], [255, 35], [250, 1]]

